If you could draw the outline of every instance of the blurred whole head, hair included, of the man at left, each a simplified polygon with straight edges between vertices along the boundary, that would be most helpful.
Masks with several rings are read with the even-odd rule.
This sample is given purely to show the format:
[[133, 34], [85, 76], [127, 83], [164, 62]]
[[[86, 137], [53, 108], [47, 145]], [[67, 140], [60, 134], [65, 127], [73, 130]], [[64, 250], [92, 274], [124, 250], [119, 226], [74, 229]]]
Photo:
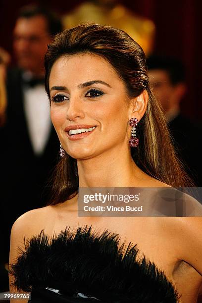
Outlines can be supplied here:
[[51, 43], [51, 36], [60, 30], [60, 24], [45, 9], [21, 9], [13, 31], [13, 49], [18, 66], [31, 72], [34, 77], [43, 78], [43, 58], [47, 45]]

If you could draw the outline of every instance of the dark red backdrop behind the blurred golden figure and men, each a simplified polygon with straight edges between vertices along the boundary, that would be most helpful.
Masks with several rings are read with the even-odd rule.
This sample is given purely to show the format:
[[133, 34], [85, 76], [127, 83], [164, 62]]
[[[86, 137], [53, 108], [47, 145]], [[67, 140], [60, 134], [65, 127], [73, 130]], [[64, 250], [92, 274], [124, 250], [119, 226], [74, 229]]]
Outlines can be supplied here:
[[[44, 0], [59, 15], [68, 14], [83, 0]], [[106, 2], [106, 1], [102, 1]], [[155, 24], [153, 52], [180, 58], [187, 71], [188, 91], [181, 104], [182, 112], [194, 120], [202, 119], [202, 1], [201, 0], [115, 0], [135, 14]], [[18, 9], [42, 1], [1, 0], [0, 46], [12, 54], [12, 30]]]

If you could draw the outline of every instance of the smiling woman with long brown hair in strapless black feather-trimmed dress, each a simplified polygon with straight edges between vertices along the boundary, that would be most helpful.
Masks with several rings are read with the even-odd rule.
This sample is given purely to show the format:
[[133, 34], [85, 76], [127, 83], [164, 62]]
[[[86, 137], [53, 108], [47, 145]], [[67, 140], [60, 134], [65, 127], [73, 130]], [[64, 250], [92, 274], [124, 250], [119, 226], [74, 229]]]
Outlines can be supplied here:
[[45, 68], [62, 157], [50, 205], [12, 227], [10, 264], [18, 246], [25, 253], [10, 267], [10, 291], [32, 290], [38, 303], [196, 302], [201, 218], [77, 213], [78, 187], [167, 189], [189, 182], [152, 95], [143, 50], [118, 29], [82, 24], [55, 37]]

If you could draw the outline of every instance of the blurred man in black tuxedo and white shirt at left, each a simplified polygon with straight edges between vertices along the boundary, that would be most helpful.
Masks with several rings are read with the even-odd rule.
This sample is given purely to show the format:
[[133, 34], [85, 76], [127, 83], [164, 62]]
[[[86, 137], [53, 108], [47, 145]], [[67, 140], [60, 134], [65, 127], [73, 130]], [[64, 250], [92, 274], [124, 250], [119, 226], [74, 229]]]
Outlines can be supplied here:
[[46, 203], [45, 187], [58, 155], [43, 62], [47, 45], [61, 30], [61, 22], [52, 12], [26, 6], [20, 10], [13, 31], [17, 66], [7, 69], [7, 108], [0, 129], [4, 262], [8, 261], [13, 222], [22, 213]]

